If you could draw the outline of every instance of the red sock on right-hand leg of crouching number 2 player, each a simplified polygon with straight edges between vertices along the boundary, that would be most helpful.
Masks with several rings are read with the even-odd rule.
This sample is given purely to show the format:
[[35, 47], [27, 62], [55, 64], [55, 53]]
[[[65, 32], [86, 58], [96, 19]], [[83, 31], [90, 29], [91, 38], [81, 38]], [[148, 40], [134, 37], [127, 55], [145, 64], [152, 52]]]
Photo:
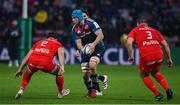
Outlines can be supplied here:
[[64, 76], [56, 76], [56, 84], [58, 86], [58, 91], [59, 93], [62, 92], [62, 90], [64, 89]]

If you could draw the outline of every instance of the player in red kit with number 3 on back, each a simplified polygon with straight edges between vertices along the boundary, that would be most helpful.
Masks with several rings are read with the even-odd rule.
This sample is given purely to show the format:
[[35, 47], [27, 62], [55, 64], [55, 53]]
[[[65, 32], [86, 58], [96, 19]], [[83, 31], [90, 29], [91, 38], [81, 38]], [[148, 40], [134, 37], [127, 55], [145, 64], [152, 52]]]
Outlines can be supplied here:
[[146, 19], [139, 19], [137, 27], [135, 27], [128, 35], [127, 48], [129, 53], [129, 61], [133, 61], [133, 42], [137, 45], [140, 53], [139, 71], [145, 85], [154, 93], [155, 100], [160, 101], [163, 95], [159, 92], [153, 81], [150, 79], [151, 74], [167, 93], [167, 99], [173, 98], [173, 91], [169, 88], [168, 83], [160, 72], [163, 61], [163, 51], [161, 45], [165, 49], [167, 55], [167, 64], [169, 67], [173, 65], [171, 59], [170, 48], [163, 35], [154, 28], [148, 26]]

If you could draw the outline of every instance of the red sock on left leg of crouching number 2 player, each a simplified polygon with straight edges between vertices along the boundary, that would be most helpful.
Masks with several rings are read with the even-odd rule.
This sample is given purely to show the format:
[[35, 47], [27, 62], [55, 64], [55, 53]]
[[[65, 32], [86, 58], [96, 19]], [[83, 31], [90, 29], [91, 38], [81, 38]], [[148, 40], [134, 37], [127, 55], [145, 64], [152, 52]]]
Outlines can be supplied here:
[[29, 74], [28, 71], [26, 71], [23, 75], [23, 79], [22, 79], [22, 82], [21, 82], [21, 88], [22, 89], [25, 89], [26, 86], [28, 85], [30, 79], [31, 79], [31, 76], [32, 74]]

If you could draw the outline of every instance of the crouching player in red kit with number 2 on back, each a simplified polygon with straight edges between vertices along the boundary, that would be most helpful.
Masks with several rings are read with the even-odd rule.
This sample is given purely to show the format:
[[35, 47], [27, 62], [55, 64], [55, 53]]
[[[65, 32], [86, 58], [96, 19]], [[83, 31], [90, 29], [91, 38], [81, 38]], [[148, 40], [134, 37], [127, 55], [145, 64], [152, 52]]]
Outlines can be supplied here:
[[[70, 93], [69, 89], [64, 89], [64, 47], [57, 41], [57, 38], [57, 34], [49, 33], [47, 38], [36, 42], [24, 57], [19, 70], [15, 73], [15, 77], [22, 75], [22, 71], [27, 64], [27, 70], [23, 75], [20, 89], [15, 96], [16, 99], [23, 95], [32, 75], [38, 70], [56, 76], [58, 98], [63, 98], [63, 96]], [[56, 54], [58, 55], [59, 64], [53, 61]]]

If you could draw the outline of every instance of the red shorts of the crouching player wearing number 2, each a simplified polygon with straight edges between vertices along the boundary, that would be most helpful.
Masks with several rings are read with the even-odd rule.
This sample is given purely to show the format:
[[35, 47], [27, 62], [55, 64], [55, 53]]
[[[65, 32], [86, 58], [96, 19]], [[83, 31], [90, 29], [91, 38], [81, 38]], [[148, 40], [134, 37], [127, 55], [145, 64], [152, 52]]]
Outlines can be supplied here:
[[41, 70], [43, 72], [52, 73], [57, 68], [57, 64], [53, 61], [51, 62], [32, 61], [32, 62], [28, 62], [28, 68], [31, 72], [36, 72], [38, 70]]

